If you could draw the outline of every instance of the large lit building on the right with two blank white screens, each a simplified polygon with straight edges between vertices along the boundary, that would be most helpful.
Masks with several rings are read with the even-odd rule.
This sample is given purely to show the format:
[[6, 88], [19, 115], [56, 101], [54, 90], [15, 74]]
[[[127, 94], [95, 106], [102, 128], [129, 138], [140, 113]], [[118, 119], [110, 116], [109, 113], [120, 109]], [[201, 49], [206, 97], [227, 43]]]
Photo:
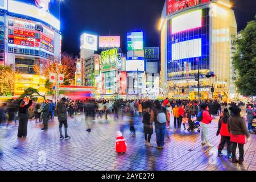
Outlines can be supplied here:
[[236, 97], [232, 57], [236, 53], [237, 23], [230, 3], [166, 1], [159, 23], [163, 94], [198, 99], [199, 91], [200, 98]]

